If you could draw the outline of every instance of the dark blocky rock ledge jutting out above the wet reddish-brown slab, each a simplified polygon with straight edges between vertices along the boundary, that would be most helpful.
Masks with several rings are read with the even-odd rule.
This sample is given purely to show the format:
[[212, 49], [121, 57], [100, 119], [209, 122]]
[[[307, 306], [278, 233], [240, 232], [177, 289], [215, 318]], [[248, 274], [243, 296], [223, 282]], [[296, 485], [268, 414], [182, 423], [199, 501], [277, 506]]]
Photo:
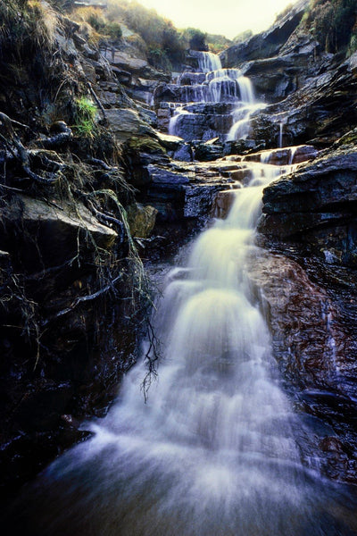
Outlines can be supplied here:
[[354, 206], [357, 154], [336, 150], [282, 177], [263, 195], [259, 229], [287, 239], [299, 236], [317, 256], [333, 250], [345, 265], [357, 265]]

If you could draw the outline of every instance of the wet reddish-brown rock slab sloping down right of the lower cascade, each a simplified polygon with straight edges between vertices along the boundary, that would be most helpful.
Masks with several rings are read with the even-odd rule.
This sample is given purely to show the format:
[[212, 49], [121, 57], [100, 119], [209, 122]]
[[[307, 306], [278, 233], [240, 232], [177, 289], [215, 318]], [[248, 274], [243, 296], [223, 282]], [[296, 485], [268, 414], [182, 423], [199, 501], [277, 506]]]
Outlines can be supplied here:
[[356, 483], [357, 344], [341, 303], [285, 255], [255, 251], [249, 278], [270, 325], [274, 356], [308, 426], [303, 456], [318, 456], [328, 476]]

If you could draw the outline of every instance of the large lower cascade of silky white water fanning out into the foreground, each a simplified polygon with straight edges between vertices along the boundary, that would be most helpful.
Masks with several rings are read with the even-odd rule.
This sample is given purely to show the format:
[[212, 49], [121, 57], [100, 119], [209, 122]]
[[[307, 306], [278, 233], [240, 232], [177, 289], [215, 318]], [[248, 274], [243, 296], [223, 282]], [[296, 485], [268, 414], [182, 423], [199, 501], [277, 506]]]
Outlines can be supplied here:
[[262, 188], [279, 168], [254, 170], [228, 218], [195, 241], [187, 268], [170, 272], [154, 317], [163, 358], [148, 403], [139, 364], [110, 414], [91, 425], [93, 439], [25, 490], [12, 531], [18, 523], [31, 536], [356, 533], [347, 492], [301, 464], [302, 424], [279, 387], [250, 290], [245, 259]]

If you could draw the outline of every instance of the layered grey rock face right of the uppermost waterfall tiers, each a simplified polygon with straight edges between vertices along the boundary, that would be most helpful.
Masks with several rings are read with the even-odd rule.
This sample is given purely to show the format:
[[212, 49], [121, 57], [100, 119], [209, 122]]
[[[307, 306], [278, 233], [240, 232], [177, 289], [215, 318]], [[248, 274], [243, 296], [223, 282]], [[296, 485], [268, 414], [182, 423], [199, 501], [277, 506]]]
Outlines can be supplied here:
[[318, 69], [305, 70], [310, 78], [302, 87], [253, 114], [253, 137], [263, 139], [266, 147], [276, 147], [281, 123], [284, 146], [311, 143], [328, 147], [352, 130], [357, 121], [355, 55], [344, 63], [335, 56], [318, 58]]

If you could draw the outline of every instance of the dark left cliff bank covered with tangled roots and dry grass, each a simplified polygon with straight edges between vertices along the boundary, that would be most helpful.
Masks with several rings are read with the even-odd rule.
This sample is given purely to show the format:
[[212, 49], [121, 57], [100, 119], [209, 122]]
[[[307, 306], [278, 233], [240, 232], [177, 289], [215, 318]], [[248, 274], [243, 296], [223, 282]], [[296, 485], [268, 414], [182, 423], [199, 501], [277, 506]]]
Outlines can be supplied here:
[[14, 474], [29, 477], [83, 437], [66, 415], [105, 411], [151, 304], [126, 210], [134, 188], [97, 81], [115, 87], [118, 106], [133, 104], [82, 36], [44, 1], [0, 4], [6, 493]]

